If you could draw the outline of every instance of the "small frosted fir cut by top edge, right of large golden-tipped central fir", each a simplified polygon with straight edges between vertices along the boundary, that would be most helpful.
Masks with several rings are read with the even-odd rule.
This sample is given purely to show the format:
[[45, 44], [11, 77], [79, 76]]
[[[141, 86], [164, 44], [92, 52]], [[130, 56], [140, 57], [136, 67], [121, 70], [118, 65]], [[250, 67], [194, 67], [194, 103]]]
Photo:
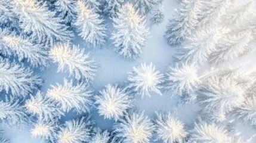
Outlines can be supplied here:
[[132, 0], [135, 10], [140, 11], [141, 15], [149, 13], [159, 2], [159, 0]]

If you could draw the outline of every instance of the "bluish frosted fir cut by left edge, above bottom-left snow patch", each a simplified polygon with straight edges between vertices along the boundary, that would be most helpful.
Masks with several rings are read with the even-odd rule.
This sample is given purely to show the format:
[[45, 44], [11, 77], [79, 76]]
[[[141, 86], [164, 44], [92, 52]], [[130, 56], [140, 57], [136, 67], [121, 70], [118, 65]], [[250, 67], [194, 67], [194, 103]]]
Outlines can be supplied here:
[[23, 101], [14, 97], [7, 98], [7, 96], [5, 101], [0, 101], [0, 120], [10, 128], [23, 128], [30, 123]]

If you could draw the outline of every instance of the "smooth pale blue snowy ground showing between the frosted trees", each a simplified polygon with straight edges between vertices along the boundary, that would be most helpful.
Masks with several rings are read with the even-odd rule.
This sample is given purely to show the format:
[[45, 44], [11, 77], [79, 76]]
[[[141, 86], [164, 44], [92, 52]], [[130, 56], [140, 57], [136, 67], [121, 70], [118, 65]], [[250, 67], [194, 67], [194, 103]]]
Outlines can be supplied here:
[[[164, 38], [164, 32], [166, 30], [166, 23], [168, 19], [172, 17], [174, 8], [178, 7], [177, 0], [164, 0], [165, 8], [165, 21], [158, 26], [151, 26], [149, 18], [147, 18], [147, 24], [150, 27], [151, 37], [145, 46], [141, 58], [135, 61], [127, 60], [113, 51], [112, 41], [108, 41], [106, 46], [101, 49], [92, 49], [85, 46], [84, 41], [79, 36], [76, 36], [73, 43], [79, 45], [80, 48], [85, 48], [85, 52], [90, 52], [91, 57], [97, 61], [99, 68], [97, 75], [95, 76], [91, 86], [97, 94], [98, 91], [103, 89], [104, 85], [108, 83], [120, 83], [124, 85], [127, 80], [127, 72], [132, 71], [132, 67], [138, 66], [140, 63], [153, 63], [156, 70], [164, 73], [169, 65], [172, 65], [174, 55], [174, 47], [171, 47]], [[111, 26], [109, 26], [111, 27]], [[240, 60], [240, 63], [246, 63], [246, 69], [256, 69], [255, 66], [255, 51], [248, 55], [244, 60]], [[237, 63], [236, 63], [237, 64]], [[205, 70], [205, 69], [203, 69]], [[57, 64], [51, 63], [51, 66], [45, 71], [39, 72], [42, 79], [44, 79], [44, 85], [42, 86], [42, 92], [46, 92], [50, 89], [50, 85], [55, 85], [56, 82], [63, 83], [63, 78], [67, 77], [66, 73], [56, 73]], [[162, 96], [158, 94], [152, 94], [152, 97], [136, 97], [134, 106], [141, 111], [145, 111], [147, 115], [152, 117], [155, 111], [174, 111], [177, 113], [178, 119], [187, 124], [192, 124], [196, 118], [196, 111], [199, 107], [195, 104], [188, 104], [186, 106], [178, 104], [178, 97], [172, 97], [171, 93], [165, 92]], [[76, 116], [76, 113], [67, 113], [64, 120], [72, 119]], [[95, 120], [97, 126], [102, 129], [112, 130], [113, 120], [104, 119], [99, 116], [97, 110], [92, 110], [92, 119]], [[230, 117], [232, 120], [232, 117]], [[252, 142], [256, 142], [256, 131], [250, 126], [245, 126], [242, 123], [236, 123], [239, 128], [240, 136], [244, 139], [252, 138]], [[1, 129], [3, 129], [1, 127]], [[11, 138], [14, 143], [38, 143], [38, 138], [31, 138], [29, 132], [23, 130], [10, 130], [4, 128], [7, 138]], [[153, 141], [152, 141], [153, 142]]]

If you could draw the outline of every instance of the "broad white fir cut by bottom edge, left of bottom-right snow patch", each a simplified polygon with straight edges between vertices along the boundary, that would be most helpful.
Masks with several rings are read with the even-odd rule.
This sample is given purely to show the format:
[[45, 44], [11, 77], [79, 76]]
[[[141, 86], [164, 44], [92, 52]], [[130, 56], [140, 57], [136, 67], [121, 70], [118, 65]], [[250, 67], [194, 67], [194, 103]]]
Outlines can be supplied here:
[[190, 130], [189, 143], [205, 142], [232, 142], [232, 138], [227, 135], [227, 131], [215, 124], [195, 123], [194, 129]]

